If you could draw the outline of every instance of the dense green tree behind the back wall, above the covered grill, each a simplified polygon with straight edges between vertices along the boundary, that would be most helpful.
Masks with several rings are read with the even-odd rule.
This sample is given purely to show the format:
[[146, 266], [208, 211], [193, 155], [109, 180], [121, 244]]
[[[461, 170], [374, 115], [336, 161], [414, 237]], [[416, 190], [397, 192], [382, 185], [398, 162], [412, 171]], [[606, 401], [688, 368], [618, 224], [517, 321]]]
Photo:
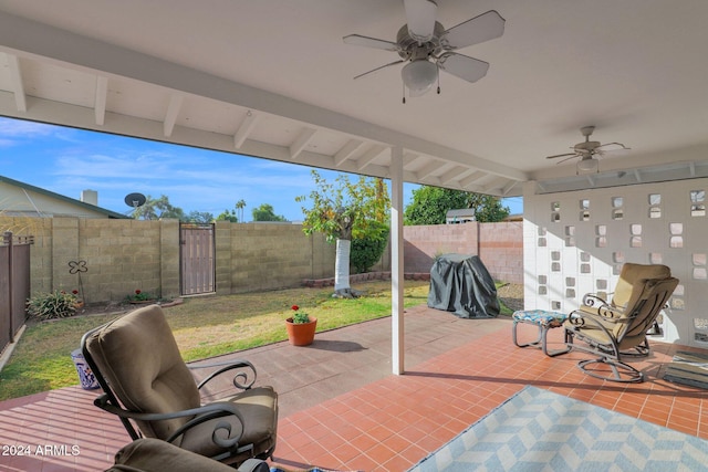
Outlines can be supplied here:
[[475, 209], [479, 222], [502, 221], [509, 208], [497, 197], [483, 193], [423, 186], [413, 191], [413, 201], [404, 212], [405, 224], [445, 224], [448, 210]]

